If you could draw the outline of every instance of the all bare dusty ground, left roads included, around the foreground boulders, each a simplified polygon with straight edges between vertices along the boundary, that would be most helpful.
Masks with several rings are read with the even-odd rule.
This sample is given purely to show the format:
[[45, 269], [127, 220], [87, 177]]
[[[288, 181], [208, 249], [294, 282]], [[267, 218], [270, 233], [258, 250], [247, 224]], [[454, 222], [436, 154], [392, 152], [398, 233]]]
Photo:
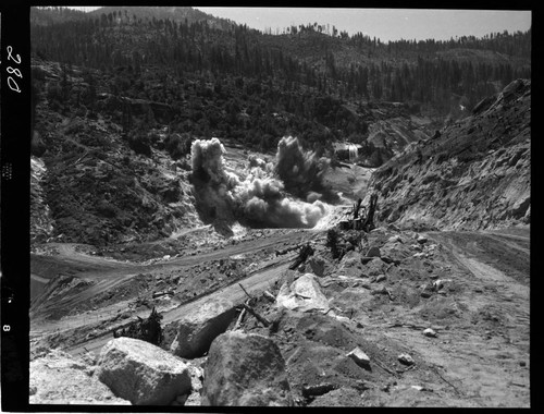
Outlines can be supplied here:
[[[394, 235], [400, 242], [392, 242]], [[243, 303], [240, 282], [260, 297], [257, 309], [276, 321], [271, 330], [247, 316], [243, 329], [277, 341], [299, 405], [529, 406], [529, 229], [433, 232], [423, 244], [415, 236], [371, 232], [366, 248], [379, 246], [397, 265], [374, 259], [380, 263], [362, 268], [354, 266], [357, 260], [335, 263], [325, 231], [252, 230], [219, 248], [139, 264], [57, 245], [55, 255], [33, 255], [33, 275], [51, 278], [57, 266], [72, 279], [35, 305], [33, 354], [51, 346], [73, 355], [99, 352], [112, 328], [146, 316], [153, 305], [168, 324], [210, 296]], [[295, 253], [275, 251], [306, 241], [331, 260], [330, 273], [319, 280], [339, 319], [281, 313], [259, 296], [296, 275], [287, 270]], [[422, 296], [424, 285], [437, 280], [442, 288]], [[152, 297], [168, 289], [174, 293]], [[425, 328], [436, 338], [423, 336]], [[356, 346], [369, 355], [370, 369], [346, 357]], [[403, 353], [415, 364], [403, 365]]]

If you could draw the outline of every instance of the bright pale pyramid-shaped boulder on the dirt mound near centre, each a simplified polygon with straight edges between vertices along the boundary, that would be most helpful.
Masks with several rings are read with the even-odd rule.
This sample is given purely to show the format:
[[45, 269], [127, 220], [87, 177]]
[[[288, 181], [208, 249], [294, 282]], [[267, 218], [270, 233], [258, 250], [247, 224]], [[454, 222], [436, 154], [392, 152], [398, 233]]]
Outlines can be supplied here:
[[311, 273], [305, 273], [290, 285], [284, 283], [276, 296], [276, 306], [292, 310], [329, 310], [329, 301]]

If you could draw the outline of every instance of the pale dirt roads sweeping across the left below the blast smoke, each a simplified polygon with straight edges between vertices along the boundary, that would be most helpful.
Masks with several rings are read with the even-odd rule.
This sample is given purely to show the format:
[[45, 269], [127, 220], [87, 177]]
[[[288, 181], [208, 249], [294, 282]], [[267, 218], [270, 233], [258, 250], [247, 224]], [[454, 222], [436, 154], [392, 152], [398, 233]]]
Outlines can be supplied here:
[[[37, 300], [32, 307], [32, 321], [30, 321], [30, 337], [39, 337], [47, 332], [62, 332], [91, 326], [111, 319], [119, 312], [126, 312], [128, 309], [128, 302], [120, 299], [116, 303], [104, 305], [96, 308], [94, 312], [86, 312], [76, 315], [66, 315], [60, 320], [42, 320], [39, 315], [46, 315], [54, 312], [55, 309], [67, 310], [78, 306], [84, 301], [97, 297], [107, 292], [112, 292], [116, 288], [126, 285], [137, 276], [141, 273], [154, 275], [154, 278], [169, 271], [185, 271], [190, 272], [190, 268], [195, 265], [210, 263], [224, 258], [251, 256], [264, 252], [267, 249], [285, 248], [285, 246], [296, 246], [301, 241], [309, 241], [316, 236], [317, 233], [311, 231], [293, 231], [288, 233], [272, 234], [257, 240], [244, 241], [237, 244], [228, 245], [225, 248], [202, 252], [195, 255], [187, 255], [184, 257], [173, 258], [168, 261], [160, 261], [150, 265], [146, 264], [132, 264], [108, 259], [98, 256], [89, 256], [77, 252], [75, 245], [59, 245], [55, 246], [58, 254], [55, 256], [39, 256], [33, 255], [32, 266], [33, 271], [33, 285], [35, 290], [44, 292], [46, 284], [52, 277], [55, 276], [54, 271], [63, 272], [64, 275], [72, 275], [75, 281], [88, 283], [83, 290], [74, 290], [69, 294], [54, 294], [49, 295], [50, 292], [45, 292], [40, 297], [37, 294]], [[271, 260], [269, 265], [260, 264], [257, 271], [249, 272], [243, 283], [249, 291], [261, 289], [265, 283], [272, 282], [281, 271], [287, 266], [289, 260], [293, 259], [294, 254], [279, 256], [277, 259]], [[185, 270], [183, 270], [185, 269]], [[74, 282], [72, 282], [74, 283]], [[62, 287], [57, 288], [62, 289]], [[232, 290], [227, 289], [226, 294], [235, 299], [242, 292], [239, 287], [235, 283]], [[211, 296], [220, 295], [223, 292], [212, 293]], [[48, 295], [47, 300], [45, 296]], [[208, 296], [207, 299], [211, 297]], [[40, 302], [41, 301], [41, 302]], [[176, 303], [173, 303], [175, 306]], [[188, 304], [188, 306], [193, 306]], [[195, 305], [196, 306], [196, 305]], [[180, 308], [173, 315], [183, 314], [184, 308]], [[134, 319], [137, 315], [146, 317], [149, 313], [148, 309], [140, 313], [133, 314], [131, 317]], [[165, 314], [166, 316], [166, 314]], [[174, 318], [175, 316], [166, 316], [166, 318]], [[126, 321], [125, 321], [126, 322]], [[88, 349], [88, 346], [87, 346]]]

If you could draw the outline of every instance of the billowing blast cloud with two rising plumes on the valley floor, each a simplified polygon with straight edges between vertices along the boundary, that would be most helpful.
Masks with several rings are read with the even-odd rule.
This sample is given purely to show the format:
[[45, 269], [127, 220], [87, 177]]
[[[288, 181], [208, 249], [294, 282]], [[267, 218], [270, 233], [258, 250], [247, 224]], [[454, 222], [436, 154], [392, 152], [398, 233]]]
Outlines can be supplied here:
[[[238, 219], [255, 227], [312, 228], [325, 216], [320, 194], [310, 191], [320, 188], [325, 165], [305, 153], [298, 139], [282, 138], [273, 165], [251, 156], [249, 170], [238, 174], [225, 170], [225, 153], [218, 138], [197, 139], [191, 146], [197, 198], [201, 211], [213, 211], [213, 219]], [[286, 190], [312, 203], [296, 199]]]

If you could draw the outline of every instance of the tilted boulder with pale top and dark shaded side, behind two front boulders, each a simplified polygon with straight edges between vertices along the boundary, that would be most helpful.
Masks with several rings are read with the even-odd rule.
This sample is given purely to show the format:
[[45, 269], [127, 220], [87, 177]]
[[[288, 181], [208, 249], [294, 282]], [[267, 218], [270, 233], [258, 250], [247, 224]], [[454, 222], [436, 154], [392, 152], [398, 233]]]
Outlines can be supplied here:
[[177, 334], [170, 350], [184, 358], [202, 356], [213, 340], [226, 331], [236, 316], [231, 301], [209, 301], [178, 320]]

